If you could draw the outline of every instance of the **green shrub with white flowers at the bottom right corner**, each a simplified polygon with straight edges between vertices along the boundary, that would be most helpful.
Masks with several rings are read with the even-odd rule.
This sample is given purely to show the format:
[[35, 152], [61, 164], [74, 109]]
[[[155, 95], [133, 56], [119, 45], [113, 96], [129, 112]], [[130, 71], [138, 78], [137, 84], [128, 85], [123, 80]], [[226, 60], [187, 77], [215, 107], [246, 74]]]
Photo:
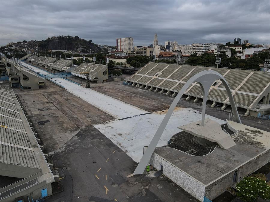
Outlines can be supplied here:
[[266, 181], [263, 181], [256, 177], [244, 177], [236, 185], [237, 196], [246, 202], [256, 201], [258, 197], [262, 199], [270, 199], [270, 186], [266, 184]]

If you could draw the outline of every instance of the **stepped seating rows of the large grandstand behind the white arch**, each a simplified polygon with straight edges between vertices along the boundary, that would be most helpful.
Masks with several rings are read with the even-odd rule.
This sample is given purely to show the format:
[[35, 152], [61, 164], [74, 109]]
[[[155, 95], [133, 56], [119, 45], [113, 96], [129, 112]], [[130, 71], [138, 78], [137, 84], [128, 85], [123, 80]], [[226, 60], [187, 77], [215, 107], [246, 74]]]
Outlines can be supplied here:
[[[201, 71], [210, 69], [224, 75], [232, 91], [237, 89], [237, 92], [232, 92], [235, 103], [244, 108], [250, 107], [257, 96], [270, 83], [270, 74], [265, 72], [165, 63], [148, 63], [128, 78], [127, 81], [179, 92], [191, 77]], [[156, 75], [158, 72], [161, 72], [161, 74]], [[145, 74], [148, 76], [143, 76]], [[217, 80], [217, 82], [220, 82], [220, 80]], [[186, 94], [202, 97], [202, 89], [199, 85], [193, 85]], [[212, 88], [208, 93], [208, 99], [216, 100], [217, 102], [224, 103], [227, 98], [228, 94], [223, 83], [218, 84], [217, 88]], [[226, 101], [225, 104], [229, 104], [229, 102]], [[254, 102], [253, 104], [255, 105], [257, 103]]]

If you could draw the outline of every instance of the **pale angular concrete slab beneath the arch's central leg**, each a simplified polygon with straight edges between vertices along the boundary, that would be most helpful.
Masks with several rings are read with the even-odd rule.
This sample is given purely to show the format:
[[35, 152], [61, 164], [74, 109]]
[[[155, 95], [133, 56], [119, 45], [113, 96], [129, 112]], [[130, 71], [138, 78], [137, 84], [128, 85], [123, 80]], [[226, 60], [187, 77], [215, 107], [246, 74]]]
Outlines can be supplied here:
[[209, 118], [205, 119], [204, 126], [201, 125], [200, 121], [196, 121], [179, 126], [178, 128], [196, 137], [205, 138], [211, 142], [217, 142], [217, 144], [223, 149], [228, 149], [235, 145], [233, 139], [228, 133], [225, 133], [222, 130], [220, 124]]

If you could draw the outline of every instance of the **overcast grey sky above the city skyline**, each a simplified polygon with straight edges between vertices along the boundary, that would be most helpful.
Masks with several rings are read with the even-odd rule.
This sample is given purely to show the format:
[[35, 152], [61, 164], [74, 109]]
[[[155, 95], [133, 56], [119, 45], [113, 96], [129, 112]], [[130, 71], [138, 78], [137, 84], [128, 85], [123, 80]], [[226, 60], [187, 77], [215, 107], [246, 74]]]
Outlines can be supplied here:
[[45, 40], [52, 35], [79, 36], [97, 44], [116, 45], [133, 37], [134, 45], [176, 40], [270, 44], [270, 1], [49, 1], [1, 0], [0, 45]]

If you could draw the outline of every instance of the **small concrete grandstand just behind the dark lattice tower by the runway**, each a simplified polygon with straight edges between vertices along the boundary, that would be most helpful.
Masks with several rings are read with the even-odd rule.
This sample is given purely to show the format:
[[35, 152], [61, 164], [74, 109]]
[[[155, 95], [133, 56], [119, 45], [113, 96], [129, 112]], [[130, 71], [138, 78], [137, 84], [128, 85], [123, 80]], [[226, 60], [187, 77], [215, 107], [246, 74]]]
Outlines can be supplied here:
[[89, 74], [91, 81], [102, 83], [108, 79], [108, 67], [93, 63], [82, 63], [71, 72], [72, 75], [86, 78], [84, 74]]

